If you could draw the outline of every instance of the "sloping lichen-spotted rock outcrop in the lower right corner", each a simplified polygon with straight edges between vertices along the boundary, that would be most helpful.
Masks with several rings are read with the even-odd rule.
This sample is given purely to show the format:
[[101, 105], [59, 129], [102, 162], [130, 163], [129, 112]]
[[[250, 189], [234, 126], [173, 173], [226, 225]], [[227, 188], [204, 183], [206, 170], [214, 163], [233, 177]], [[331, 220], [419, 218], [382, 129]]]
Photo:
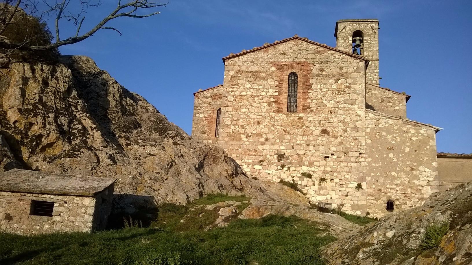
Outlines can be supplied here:
[[[448, 223], [437, 248], [421, 242], [431, 225]], [[324, 248], [330, 265], [472, 264], [472, 182], [434, 193], [422, 206], [389, 215]]]

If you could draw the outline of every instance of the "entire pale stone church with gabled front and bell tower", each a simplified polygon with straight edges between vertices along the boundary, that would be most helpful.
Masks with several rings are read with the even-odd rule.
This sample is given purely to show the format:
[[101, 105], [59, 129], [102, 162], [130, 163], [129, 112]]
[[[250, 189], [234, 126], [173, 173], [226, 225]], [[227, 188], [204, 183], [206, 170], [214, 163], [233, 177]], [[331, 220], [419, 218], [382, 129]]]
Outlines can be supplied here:
[[380, 217], [438, 190], [436, 136], [410, 98], [379, 85], [379, 20], [339, 20], [336, 47], [293, 37], [223, 58], [223, 85], [194, 93], [192, 136], [311, 202]]

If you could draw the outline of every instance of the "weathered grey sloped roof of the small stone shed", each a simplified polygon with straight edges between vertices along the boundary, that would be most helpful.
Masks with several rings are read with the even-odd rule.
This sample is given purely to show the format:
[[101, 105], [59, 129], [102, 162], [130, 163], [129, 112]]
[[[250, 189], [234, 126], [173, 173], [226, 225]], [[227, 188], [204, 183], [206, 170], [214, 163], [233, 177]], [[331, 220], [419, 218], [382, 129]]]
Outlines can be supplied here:
[[0, 191], [94, 196], [116, 180], [12, 169], [0, 173]]

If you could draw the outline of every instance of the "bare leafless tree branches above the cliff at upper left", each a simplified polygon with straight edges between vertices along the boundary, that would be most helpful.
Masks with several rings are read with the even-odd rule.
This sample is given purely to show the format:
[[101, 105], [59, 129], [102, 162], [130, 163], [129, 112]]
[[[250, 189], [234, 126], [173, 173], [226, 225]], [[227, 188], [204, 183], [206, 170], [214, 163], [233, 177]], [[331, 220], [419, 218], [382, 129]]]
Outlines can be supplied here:
[[[118, 29], [110, 26], [105, 26], [110, 20], [117, 17], [133, 17], [143, 18], [151, 17], [159, 14], [160, 12], [146, 12], [140, 14], [139, 11], [151, 10], [158, 7], [166, 6], [165, 4], [159, 4], [157, 2], [151, 2], [149, 0], [127, 0], [126, 3], [122, 3], [122, 0], [118, 0], [117, 7], [110, 12], [110, 14], [104, 17], [96, 26], [89, 29], [86, 33], [80, 34], [82, 29], [82, 23], [85, 19], [85, 9], [90, 7], [98, 7], [101, 5], [100, 1], [92, 2], [93, 0], [3, 0], [4, 3], [0, 5], [0, 48], [11, 52], [15, 50], [21, 51], [35, 51], [35, 50], [52, 50], [57, 49], [60, 46], [78, 43], [86, 38], [92, 36], [100, 29], [111, 29], [119, 32]], [[80, 4], [80, 8], [69, 9], [70, 4]], [[41, 10], [40, 7], [45, 7]], [[35, 16], [40, 22], [44, 23], [49, 19], [54, 19], [55, 35], [54, 42], [50, 43], [30, 43], [27, 39], [24, 41], [11, 41], [7, 38], [1, 37], [8, 26], [15, 26], [16, 17], [19, 12], [25, 12], [27, 15]], [[64, 39], [60, 38], [59, 26], [62, 20], [72, 22], [76, 26], [76, 34]], [[5, 52], [3, 52], [5, 54]]]

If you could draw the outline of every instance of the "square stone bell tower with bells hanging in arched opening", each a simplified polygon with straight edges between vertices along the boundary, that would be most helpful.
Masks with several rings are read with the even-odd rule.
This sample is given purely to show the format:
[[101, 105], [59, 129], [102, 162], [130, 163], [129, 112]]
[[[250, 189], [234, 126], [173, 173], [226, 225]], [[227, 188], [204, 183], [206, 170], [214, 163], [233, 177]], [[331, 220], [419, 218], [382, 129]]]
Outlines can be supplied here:
[[366, 82], [379, 85], [379, 20], [343, 19], [336, 22], [336, 48], [369, 60]]

